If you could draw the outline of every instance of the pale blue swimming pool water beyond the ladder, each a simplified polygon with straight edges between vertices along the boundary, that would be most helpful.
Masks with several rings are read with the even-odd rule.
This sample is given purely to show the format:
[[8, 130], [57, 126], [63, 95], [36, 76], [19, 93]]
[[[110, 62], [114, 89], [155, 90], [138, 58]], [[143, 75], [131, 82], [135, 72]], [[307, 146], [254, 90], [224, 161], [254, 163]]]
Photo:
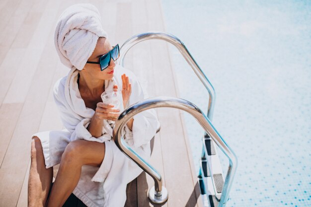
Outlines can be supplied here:
[[[166, 31], [184, 42], [216, 89], [212, 123], [239, 161], [227, 206], [311, 206], [311, 1], [162, 6]], [[203, 85], [170, 51], [180, 97], [206, 111]], [[198, 172], [203, 132], [184, 116]]]

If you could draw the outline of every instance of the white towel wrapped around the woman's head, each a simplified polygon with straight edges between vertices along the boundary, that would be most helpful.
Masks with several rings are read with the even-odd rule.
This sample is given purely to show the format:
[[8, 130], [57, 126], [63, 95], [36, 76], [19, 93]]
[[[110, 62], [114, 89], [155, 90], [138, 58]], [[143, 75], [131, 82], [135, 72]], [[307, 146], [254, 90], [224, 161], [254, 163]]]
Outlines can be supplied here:
[[90, 3], [69, 6], [56, 25], [54, 43], [61, 62], [83, 69], [99, 37], [107, 37], [98, 9]]

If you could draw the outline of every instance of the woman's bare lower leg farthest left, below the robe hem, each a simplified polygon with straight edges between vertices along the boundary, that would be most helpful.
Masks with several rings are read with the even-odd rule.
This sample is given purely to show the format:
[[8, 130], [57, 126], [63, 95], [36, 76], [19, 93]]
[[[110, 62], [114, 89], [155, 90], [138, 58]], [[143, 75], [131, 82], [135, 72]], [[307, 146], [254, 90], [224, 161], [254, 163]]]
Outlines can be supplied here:
[[31, 165], [28, 178], [28, 207], [44, 207], [53, 179], [53, 167], [45, 168], [41, 141], [31, 140]]

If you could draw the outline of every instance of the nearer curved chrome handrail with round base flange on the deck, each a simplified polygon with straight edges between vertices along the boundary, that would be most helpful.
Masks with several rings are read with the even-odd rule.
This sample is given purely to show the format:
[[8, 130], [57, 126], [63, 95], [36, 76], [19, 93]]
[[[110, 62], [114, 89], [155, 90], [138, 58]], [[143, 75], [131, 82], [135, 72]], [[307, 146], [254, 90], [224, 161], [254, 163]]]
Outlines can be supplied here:
[[[158, 204], [163, 203], [167, 200], [167, 192], [163, 197], [162, 192], [162, 180], [161, 175], [152, 167], [147, 161], [139, 156], [131, 147], [127, 145], [123, 136], [124, 136], [124, 127], [126, 123], [136, 114], [143, 112], [148, 109], [160, 108], [160, 107], [169, 107], [177, 108], [191, 114], [197, 122], [201, 125], [204, 131], [216, 142], [216, 144], [221, 148], [221, 150], [229, 158], [229, 167], [223, 187], [223, 193], [220, 199], [219, 207], [225, 207], [228, 201], [229, 192], [233, 183], [233, 177], [236, 172], [237, 167], [237, 158], [232, 149], [228, 146], [226, 141], [220, 136], [217, 130], [214, 128], [210, 120], [202, 113], [202, 111], [195, 106], [193, 103], [173, 97], [156, 97], [145, 99], [136, 104], [130, 106], [124, 110], [118, 120], [115, 122], [113, 128], [113, 137], [116, 141], [116, 145], [123, 151], [130, 159], [136, 162], [145, 172], [147, 172], [155, 181], [155, 200]], [[164, 189], [164, 187], [163, 187]], [[166, 190], [166, 189], [165, 189]], [[151, 199], [151, 190], [149, 191], [149, 198]], [[162, 200], [161, 200], [162, 199]]]

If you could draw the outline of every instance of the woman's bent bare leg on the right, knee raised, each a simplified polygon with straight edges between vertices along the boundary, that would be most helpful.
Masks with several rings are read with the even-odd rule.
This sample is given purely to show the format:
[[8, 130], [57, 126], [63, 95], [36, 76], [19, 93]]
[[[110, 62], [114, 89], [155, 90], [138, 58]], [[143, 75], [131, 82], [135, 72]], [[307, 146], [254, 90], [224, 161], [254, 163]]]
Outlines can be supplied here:
[[62, 156], [47, 207], [62, 207], [76, 188], [82, 165], [100, 166], [105, 156], [105, 143], [71, 141]]

